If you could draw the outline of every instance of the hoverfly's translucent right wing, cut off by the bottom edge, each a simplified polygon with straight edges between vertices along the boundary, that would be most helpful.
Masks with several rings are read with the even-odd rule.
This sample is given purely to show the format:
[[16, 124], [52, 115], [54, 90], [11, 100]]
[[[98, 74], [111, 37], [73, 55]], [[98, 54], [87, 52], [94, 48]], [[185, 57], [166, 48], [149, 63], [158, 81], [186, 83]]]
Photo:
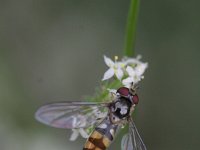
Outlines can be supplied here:
[[121, 149], [122, 150], [147, 150], [132, 120], [129, 123], [129, 133], [125, 134], [122, 138]]

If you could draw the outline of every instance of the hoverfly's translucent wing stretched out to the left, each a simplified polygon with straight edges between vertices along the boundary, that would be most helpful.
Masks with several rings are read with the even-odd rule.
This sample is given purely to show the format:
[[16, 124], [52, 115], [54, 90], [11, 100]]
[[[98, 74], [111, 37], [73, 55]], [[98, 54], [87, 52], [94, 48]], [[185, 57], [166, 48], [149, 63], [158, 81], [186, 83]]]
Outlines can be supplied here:
[[109, 103], [59, 102], [40, 107], [35, 118], [56, 128], [87, 128], [107, 116]]

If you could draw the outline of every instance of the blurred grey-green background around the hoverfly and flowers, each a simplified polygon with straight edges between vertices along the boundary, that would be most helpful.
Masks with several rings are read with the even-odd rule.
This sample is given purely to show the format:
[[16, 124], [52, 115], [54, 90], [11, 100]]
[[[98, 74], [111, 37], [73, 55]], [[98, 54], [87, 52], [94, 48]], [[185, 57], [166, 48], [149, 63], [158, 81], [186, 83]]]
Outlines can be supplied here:
[[[195, 150], [200, 139], [200, 1], [141, 1], [136, 53], [149, 63], [135, 123], [148, 150]], [[47, 102], [93, 95], [122, 56], [129, 1], [1, 0], [0, 149], [78, 150], [69, 130], [36, 122]], [[110, 149], [117, 149], [113, 143]]]

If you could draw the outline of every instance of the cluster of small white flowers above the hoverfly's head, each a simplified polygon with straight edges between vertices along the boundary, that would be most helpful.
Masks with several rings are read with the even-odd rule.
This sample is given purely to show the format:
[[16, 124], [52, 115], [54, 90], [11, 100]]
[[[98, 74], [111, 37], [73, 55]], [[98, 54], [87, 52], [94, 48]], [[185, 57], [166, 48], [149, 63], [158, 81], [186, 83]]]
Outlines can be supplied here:
[[104, 56], [104, 61], [109, 69], [104, 73], [103, 81], [117, 77], [118, 80], [126, 87], [130, 87], [132, 84], [137, 84], [144, 78], [143, 73], [148, 67], [148, 63], [140, 61], [141, 56], [136, 58], [123, 58], [121, 61], [112, 61], [110, 58]]

